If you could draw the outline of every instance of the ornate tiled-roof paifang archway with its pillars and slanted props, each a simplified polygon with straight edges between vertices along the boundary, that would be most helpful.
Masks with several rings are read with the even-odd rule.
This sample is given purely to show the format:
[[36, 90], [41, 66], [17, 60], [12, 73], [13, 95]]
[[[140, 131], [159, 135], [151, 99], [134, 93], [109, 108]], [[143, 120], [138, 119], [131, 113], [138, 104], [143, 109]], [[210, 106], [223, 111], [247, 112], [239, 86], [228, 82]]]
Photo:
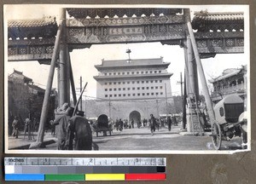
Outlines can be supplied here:
[[[67, 18], [66, 14], [70, 17]], [[187, 94], [191, 99], [198, 99], [198, 72], [211, 119], [214, 113], [200, 59], [216, 54], [243, 53], [242, 13], [200, 12], [191, 21], [190, 9], [79, 8], [62, 9], [60, 17], [59, 25], [55, 19], [8, 22], [8, 60], [38, 60], [50, 64], [38, 131], [39, 145], [44, 141], [44, 124], [55, 66], [59, 68], [59, 106], [70, 101], [70, 86], [76, 102], [69, 56], [73, 49], [108, 43], [160, 42], [179, 45], [185, 55]], [[192, 26], [197, 32], [192, 31]], [[58, 65], [57, 58], [60, 60]]]

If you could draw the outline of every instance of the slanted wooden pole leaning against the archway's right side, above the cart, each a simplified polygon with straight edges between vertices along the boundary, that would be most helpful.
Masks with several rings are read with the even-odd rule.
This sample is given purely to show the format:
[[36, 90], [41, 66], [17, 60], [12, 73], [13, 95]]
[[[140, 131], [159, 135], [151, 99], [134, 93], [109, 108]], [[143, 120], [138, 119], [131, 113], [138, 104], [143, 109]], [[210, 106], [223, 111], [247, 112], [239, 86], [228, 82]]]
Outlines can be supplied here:
[[210, 118], [210, 121], [211, 121], [211, 124], [212, 124], [214, 119], [215, 119], [215, 114], [213, 112], [212, 101], [211, 101], [211, 97], [210, 97], [208, 86], [207, 86], [207, 80], [206, 80], [206, 77], [205, 77], [203, 67], [201, 65], [201, 59], [200, 59], [200, 55], [199, 55], [199, 52], [198, 52], [198, 49], [197, 49], [197, 46], [196, 46], [196, 43], [195, 43], [195, 36], [194, 36], [193, 30], [192, 30], [191, 23], [188, 22], [187, 25], [188, 25], [188, 30], [189, 30], [189, 36], [191, 38], [192, 48], [194, 50], [197, 69], [198, 69], [198, 72], [199, 72], [199, 75], [200, 75], [200, 78], [201, 78], [203, 95], [205, 96], [206, 102], [207, 102], [207, 111], [208, 111], [209, 118]]

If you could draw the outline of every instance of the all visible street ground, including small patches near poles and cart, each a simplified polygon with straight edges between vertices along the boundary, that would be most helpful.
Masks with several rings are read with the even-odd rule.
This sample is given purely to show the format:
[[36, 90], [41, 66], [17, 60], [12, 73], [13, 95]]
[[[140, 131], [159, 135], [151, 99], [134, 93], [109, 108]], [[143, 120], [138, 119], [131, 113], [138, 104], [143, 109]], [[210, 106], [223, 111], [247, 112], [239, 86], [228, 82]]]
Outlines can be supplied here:
[[[93, 134], [93, 141], [98, 147], [99, 151], [125, 151], [125, 150], [189, 150], [189, 151], [201, 151], [201, 150], [214, 150], [212, 147], [212, 139], [207, 133], [204, 136], [186, 135], [180, 134], [181, 126], [172, 127], [172, 131], [169, 132], [166, 128], [156, 129], [154, 135], [151, 135], [150, 130], [146, 127], [141, 129], [123, 129], [123, 131], [112, 132], [112, 135], [103, 136], [102, 133], [96, 137], [96, 133]], [[44, 135], [44, 141], [47, 142], [47, 146], [44, 149], [55, 150], [56, 141], [54, 135], [46, 133]], [[19, 139], [9, 137], [9, 148], [26, 149], [32, 141], [27, 140], [27, 137], [23, 139], [23, 135], [20, 135]], [[231, 141], [223, 141], [222, 150], [240, 149], [241, 138], [235, 137]]]

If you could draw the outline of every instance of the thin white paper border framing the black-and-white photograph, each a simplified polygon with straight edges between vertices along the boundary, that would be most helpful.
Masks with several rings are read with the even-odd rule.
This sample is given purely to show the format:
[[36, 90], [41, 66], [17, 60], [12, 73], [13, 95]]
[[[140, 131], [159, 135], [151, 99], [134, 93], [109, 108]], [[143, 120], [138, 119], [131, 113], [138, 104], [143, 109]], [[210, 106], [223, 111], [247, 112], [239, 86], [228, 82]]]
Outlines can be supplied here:
[[[8, 25], [5, 17], [5, 12], [8, 6], [26, 6], [30, 4], [4, 4], [3, 5], [3, 37], [4, 37], [4, 67], [8, 65]], [[201, 4], [201, 5], [164, 5], [164, 4], [34, 4], [31, 5], [42, 5], [42, 6], [56, 6], [58, 8], [180, 8], [180, 9], [193, 9], [193, 7], [202, 6], [202, 9], [207, 9], [207, 7], [217, 7], [222, 6], [230, 8], [230, 6], [239, 6], [244, 11], [244, 55], [245, 60], [247, 60], [247, 142], [248, 146], [245, 150], [203, 150], [203, 151], [189, 151], [189, 150], [150, 150], [150, 151], [57, 151], [57, 150], [10, 150], [9, 149], [9, 137], [8, 137], [8, 74], [4, 72], [4, 152], [14, 153], [14, 154], [232, 154], [236, 152], [247, 152], [251, 151], [251, 95], [250, 95], [250, 39], [249, 39], [249, 5], [230, 5], [230, 4]], [[57, 151], [57, 152], [56, 152]]]

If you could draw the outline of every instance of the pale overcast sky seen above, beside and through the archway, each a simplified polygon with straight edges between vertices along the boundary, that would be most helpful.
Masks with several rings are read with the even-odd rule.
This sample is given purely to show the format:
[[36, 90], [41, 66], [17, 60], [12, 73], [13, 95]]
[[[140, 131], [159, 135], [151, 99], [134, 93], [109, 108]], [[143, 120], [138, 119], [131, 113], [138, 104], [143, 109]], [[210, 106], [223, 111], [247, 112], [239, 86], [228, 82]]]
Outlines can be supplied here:
[[[51, 15], [58, 19], [59, 6], [60, 5], [53, 4], [49, 6], [22, 5], [22, 7], [20, 7], [20, 5], [11, 5], [5, 7], [4, 17], [6, 19], [20, 20], [42, 18], [43, 16]], [[79, 8], [80, 7], [81, 5], [79, 5]], [[113, 5], [111, 7], [113, 7]], [[192, 16], [191, 19], [193, 19], [194, 12], [200, 10], [207, 9], [208, 12], [247, 12], [248, 9], [247, 6], [243, 5], [179, 6], [179, 8], [190, 8]], [[131, 49], [131, 60], [160, 58], [162, 56], [165, 62], [171, 62], [171, 65], [168, 67], [168, 72], [173, 73], [173, 76], [171, 77], [172, 95], [180, 95], [180, 85], [177, 85], [177, 81], [180, 80], [180, 72], [183, 72], [184, 70], [183, 49], [179, 46], [161, 45], [161, 43], [101, 44], [92, 45], [90, 49], [73, 50], [71, 53], [71, 60], [76, 88], [79, 88], [79, 78], [82, 76], [84, 83], [88, 82], [85, 95], [96, 96], [96, 81], [92, 78], [97, 75], [94, 65], [102, 64], [102, 59], [125, 60], [128, 58], [128, 55], [125, 53], [128, 48]], [[246, 48], [246, 50], [248, 50], [248, 44], [246, 45]], [[249, 53], [246, 51], [245, 54], [216, 55], [214, 58], [201, 60], [207, 80], [218, 77], [226, 68], [240, 68], [241, 65], [247, 64], [249, 62], [248, 55]], [[45, 89], [49, 66], [39, 65], [37, 61], [8, 62], [5, 65], [5, 72], [7, 72], [7, 74], [12, 73], [14, 69], [23, 72], [24, 75], [32, 78], [34, 83]], [[55, 71], [53, 84], [53, 87], [55, 88], [57, 86], [56, 73], [57, 72]]]

